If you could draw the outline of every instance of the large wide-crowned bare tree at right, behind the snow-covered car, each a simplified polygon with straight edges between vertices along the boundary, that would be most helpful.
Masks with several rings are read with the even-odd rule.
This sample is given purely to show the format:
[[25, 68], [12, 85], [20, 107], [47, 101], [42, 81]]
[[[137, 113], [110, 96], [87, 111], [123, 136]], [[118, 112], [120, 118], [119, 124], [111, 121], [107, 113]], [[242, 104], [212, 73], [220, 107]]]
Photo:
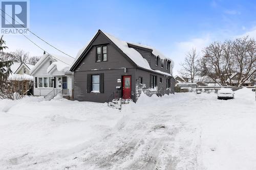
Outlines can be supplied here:
[[[200, 75], [212, 80], [218, 79], [221, 85], [231, 84], [231, 75], [238, 74], [237, 86], [241, 86], [256, 72], [256, 42], [243, 37], [233, 41], [213, 42], [203, 50], [200, 59]], [[229, 82], [227, 82], [229, 80]]]

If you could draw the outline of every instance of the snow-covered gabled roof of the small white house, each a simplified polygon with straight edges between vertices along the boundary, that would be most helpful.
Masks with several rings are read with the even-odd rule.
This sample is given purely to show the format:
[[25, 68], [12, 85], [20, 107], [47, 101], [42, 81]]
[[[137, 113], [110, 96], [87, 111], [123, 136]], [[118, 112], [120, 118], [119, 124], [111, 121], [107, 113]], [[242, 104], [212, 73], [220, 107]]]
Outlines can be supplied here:
[[45, 54], [43, 55], [40, 60], [35, 64], [35, 66], [31, 69], [31, 74], [34, 74], [34, 71], [36, 71], [41, 64], [44, 64], [45, 61], [48, 58], [55, 59], [56, 61], [53, 62], [48, 68], [47, 72], [49, 73], [53, 68], [57, 68], [58, 71], [63, 71], [67, 72], [70, 69], [70, 66], [72, 62], [74, 61], [73, 58], [71, 57], [66, 57], [66, 56], [59, 56], [59, 55], [50, 55], [50, 54]]

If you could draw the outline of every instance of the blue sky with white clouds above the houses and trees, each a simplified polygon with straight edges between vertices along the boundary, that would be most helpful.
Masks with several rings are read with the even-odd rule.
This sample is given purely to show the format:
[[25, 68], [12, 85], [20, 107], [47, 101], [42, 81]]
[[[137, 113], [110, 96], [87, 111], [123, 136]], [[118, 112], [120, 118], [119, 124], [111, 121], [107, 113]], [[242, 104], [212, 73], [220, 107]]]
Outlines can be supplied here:
[[[151, 45], [179, 63], [193, 47], [200, 53], [212, 41], [256, 38], [254, 1], [30, 1], [30, 29], [62, 51], [78, 50], [101, 29], [119, 39]], [[36, 37], [51, 54], [59, 54]], [[23, 36], [5, 35], [8, 51], [42, 51]]]

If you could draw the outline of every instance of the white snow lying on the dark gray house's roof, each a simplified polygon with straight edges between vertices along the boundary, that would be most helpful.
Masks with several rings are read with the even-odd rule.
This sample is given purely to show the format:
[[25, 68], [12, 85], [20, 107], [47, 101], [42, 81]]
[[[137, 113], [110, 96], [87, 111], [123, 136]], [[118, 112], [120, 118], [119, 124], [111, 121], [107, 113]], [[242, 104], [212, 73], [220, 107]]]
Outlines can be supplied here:
[[[137, 52], [134, 48], [131, 48], [128, 46], [127, 42], [126, 41], [122, 41], [122, 40], [119, 40], [118, 38], [108, 34], [108, 33], [105, 33], [103, 31], [101, 31], [106, 37], [108, 37], [114, 44], [117, 45], [117, 47], [125, 54], [127, 55], [136, 65], [138, 65], [139, 67], [142, 67], [142, 68], [145, 68], [145, 69], [148, 69], [148, 70], [151, 70], [151, 71], [154, 71], [154, 72], [158, 72], [160, 74], [163, 74], [163, 75], [166, 75], [166, 76], [172, 76], [170, 74], [168, 74], [167, 72], [163, 72], [163, 71], [160, 71], [160, 70], [153, 70], [151, 67], [150, 67], [150, 64], [148, 64], [148, 62], [146, 61], [146, 59], [144, 59], [141, 54], [139, 52]], [[97, 33], [96, 33], [97, 34]], [[96, 35], [95, 34], [95, 35]], [[93, 36], [93, 38], [95, 37], [95, 35]], [[88, 47], [88, 45], [90, 44], [90, 42], [93, 40], [93, 38], [85, 45], [81, 48], [81, 50], [79, 50], [79, 52], [77, 53], [77, 56], [75, 58], [75, 60], [73, 61], [72, 65], [75, 64], [75, 62], [79, 59], [79, 57], [81, 56], [81, 54], [83, 53], [84, 50], [86, 50], [86, 48]], [[155, 51], [155, 54], [160, 54], [157, 50]], [[154, 54], [154, 55], [155, 55]], [[160, 54], [162, 57], [163, 55]], [[168, 59], [170, 60], [170, 59]], [[172, 61], [172, 60], [171, 60]], [[172, 61], [173, 63], [173, 61]]]

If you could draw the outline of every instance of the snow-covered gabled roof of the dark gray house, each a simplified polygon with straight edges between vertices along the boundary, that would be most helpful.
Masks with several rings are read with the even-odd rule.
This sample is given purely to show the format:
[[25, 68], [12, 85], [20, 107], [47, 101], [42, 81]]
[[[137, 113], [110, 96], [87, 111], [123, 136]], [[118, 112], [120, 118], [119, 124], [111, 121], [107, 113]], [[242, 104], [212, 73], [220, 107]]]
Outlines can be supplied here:
[[[172, 75], [170, 75], [170, 74], [168, 74], [166, 72], [160, 71], [160, 70], [153, 70], [150, 67], [150, 64], [148, 64], [146, 59], [144, 59], [139, 52], [137, 52], [134, 48], [129, 47], [129, 43], [127, 43], [126, 41], [119, 40], [118, 38], [116, 38], [116, 37], [114, 37], [114, 36], [112, 36], [112, 35], [110, 35], [108, 33], [102, 32], [101, 30], [98, 30], [98, 32], [95, 34], [95, 36], [83, 48], [81, 48], [81, 50], [79, 50], [79, 52], [77, 53], [77, 56], [76, 56], [74, 62], [72, 63], [72, 66], [71, 66], [71, 69], [70, 69], [71, 71], [74, 71], [74, 69], [76, 68], [77, 64], [79, 63], [79, 60], [81, 60], [81, 57], [83, 57], [83, 54], [86, 53], [89, 50], [91, 43], [93, 42], [93, 40], [96, 38], [96, 36], [99, 33], [102, 33], [111, 42], [113, 42], [117, 46], [117, 48], [125, 56], [127, 56], [127, 58], [129, 58], [132, 61], [132, 63], [135, 64], [136, 66], [144, 68], [144, 69], [147, 69], [147, 70], [150, 70], [150, 71], [153, 71], [153, 72], [164, 74], [164, 75], [167, 75], [167, 76], [172, 76]], [[149, 48], [149, 47], [147, 46], [147, 48]]]

